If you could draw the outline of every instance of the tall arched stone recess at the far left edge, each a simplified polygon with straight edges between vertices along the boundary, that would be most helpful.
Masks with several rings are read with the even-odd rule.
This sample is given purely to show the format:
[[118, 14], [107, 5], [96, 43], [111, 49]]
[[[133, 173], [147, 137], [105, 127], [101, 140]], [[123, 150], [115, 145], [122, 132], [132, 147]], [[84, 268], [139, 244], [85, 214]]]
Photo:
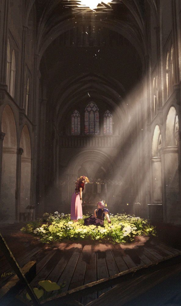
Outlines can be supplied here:
[[2, 153], [0, 222], [13, 223], [16, 219], [17, 140], [14, 114], [9, 105], [3, 110], [1, 129], [5, 138]]

